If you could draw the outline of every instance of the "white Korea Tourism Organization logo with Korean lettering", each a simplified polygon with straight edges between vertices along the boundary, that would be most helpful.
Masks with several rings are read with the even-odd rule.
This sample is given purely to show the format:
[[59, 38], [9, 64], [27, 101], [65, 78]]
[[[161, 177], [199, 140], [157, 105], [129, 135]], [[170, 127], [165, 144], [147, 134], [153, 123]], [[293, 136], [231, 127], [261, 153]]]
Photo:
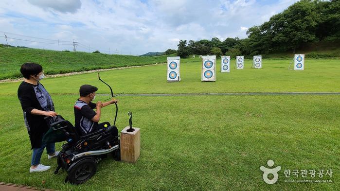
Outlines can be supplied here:
[[[267, 165], [269, 168], [261, 166], [260, 170], [263, 172], [263, 180], [267, 184], [274, 184], [279, 179], [278, 172], [281, 170], [281, 166], [273, 167], [274, 161], [269, 159], [267, 161]], [[325, 177], [332, 178], [333, 171], [332, 169], [323, 170], [323, 169], [285, 169], [283, 170], [285, 175], [284, 182], [286, 183], [297, 183], [297, 182], [304, 182], [304, 183], [333, 183], [332, 179], [325, 179]], [[272, 174], [272, 175], [270, 175]], [[269, 179], [268, 176], [272, 177]], [[302, 179], [301, 179], [302, 178]]]

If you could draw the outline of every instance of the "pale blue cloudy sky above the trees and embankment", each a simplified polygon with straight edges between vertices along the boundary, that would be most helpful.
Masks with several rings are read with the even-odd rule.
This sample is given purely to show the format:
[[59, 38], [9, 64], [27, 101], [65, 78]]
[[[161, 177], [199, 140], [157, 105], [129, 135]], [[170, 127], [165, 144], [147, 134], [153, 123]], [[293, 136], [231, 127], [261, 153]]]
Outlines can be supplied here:
[[296, 1], [1, 0], [0, 43], [5, 34], [13, 46], [72, 51], [75, 41], [84, 52], [164, 52], [179, 39], [246, 38]]

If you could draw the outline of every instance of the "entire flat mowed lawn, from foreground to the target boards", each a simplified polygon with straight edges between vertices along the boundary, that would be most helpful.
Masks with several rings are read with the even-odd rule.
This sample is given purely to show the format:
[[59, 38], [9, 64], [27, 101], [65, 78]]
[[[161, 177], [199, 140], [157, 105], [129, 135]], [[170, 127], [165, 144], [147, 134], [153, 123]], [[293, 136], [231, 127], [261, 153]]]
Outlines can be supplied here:
[[[200, 82], [199, 59], [181, 60], [179, 83], [166, 83], [165, 65], [106, 71], [101, 77], [117, 93], [340, 91], [339, 60], [306, 60], [304, 71], [287, 70], [289, 63], [265, 59], [264, 69], [255, 70], [246, 60], [246, 69], [217, 72], [213, 83]], [[94, 73], [42, 83], [56, 111], [71, 122], [80, 85], [92, 84], [98, 93], [108, 93]], [[16, 96], [18, 84], [0, 84], [2, 182], [61, 191], [340, 189], [340, 95], [119, 96], [119, 130], [127, 126], [130, 110], [133, 124], [141, 128], [138, 162], [104, 159], [89, 182], [72, 186], [63, 183], [65, 172], [29, 174], [31, 151]], [[112, 122], [111, 109], [103, 109], [102, 121]], [[263, 181], [260, 171], [268, 159], [282, 167], [273, 185]], [[46, 155], [42, 163], [56, 167]], [[332, 169], [328, 179], [333, 183], [286, 183], [284, 169]]]

